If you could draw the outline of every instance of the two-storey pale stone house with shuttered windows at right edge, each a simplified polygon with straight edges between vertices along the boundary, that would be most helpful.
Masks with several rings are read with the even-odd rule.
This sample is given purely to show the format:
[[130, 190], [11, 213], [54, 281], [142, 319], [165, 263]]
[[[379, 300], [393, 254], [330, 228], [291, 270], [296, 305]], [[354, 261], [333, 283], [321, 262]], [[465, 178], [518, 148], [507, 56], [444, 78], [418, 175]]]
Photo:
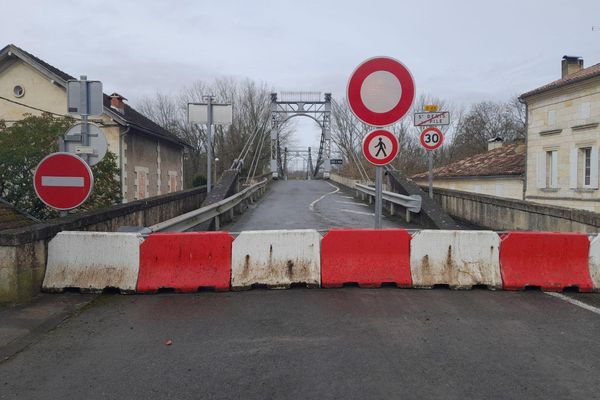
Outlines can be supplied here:
[[560, 79], [520, 96], [527, 106], [525, 200], [600, 212], [600, 64], [564, 56]]

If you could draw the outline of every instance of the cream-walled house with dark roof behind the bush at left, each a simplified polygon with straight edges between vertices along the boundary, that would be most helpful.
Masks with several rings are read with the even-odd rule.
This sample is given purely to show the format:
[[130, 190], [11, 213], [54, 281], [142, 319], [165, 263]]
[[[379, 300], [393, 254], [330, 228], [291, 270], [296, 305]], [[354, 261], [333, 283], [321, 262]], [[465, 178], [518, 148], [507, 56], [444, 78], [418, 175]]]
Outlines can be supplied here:
[[[94, 78], [94, 77], [90, 77]], [[25, 114], [67, 115], [66, 83], [71, 75], [14, 45], [0, 50], [0, 120]], [[125, 103], [104, 95], [104, 114], [90, 118], [118, 159], [123, 202], [183, 189], [186, 144]]]

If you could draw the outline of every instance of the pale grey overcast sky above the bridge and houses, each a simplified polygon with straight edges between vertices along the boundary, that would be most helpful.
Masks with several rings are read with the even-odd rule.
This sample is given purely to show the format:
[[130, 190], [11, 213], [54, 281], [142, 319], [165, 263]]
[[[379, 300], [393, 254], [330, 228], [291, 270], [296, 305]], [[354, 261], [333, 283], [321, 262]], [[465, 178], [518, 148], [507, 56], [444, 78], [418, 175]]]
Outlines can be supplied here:
[[[0, 39], [134, 105], [194, 81], [248, 77], [276, 91], [344, 96], [387, 55], [418, 93], [468, 106], [560, 77], [565, 54], [600, 62], [599, 0], [1, 0]], [[300, 124], [314, 136], [311, 121]], [[302, 128], [304, 129], [304, 128]], [[309, 142], [312, 140], [309, 140]], [[299, 138], [299, 144], [308, 143]]]

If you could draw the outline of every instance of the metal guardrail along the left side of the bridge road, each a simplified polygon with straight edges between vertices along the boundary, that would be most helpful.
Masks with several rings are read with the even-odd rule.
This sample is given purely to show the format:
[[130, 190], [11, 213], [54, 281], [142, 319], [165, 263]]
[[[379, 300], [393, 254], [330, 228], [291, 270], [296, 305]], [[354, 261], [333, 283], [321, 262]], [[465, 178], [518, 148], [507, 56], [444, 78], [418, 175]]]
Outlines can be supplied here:
[[249, 186], [241, 192], [238, 192], [233, 196], [223, 199], [217, 203], [178, 215], [175, 218], [159, 222], [156, 225], [149, 226], [143, 231], [143, 233], [150, 234], [155, 232], [186, 231], [196, 225], [200, 225], [203, 222], [210, 221], [213, 218], [218, 218], [221, 214], [224, 214], [227, 211], [233, 212], [233, 208], [235, 206], [253, 196], [257, 191], [263, 190], [266, 185], [267, 179], [264, 179], [261, 182]]

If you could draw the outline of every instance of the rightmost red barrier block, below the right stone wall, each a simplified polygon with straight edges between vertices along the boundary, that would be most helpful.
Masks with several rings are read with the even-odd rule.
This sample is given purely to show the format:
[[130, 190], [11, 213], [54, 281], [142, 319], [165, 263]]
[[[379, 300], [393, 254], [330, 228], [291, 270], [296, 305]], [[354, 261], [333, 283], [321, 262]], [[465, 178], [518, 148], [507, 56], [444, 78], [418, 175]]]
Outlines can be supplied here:
[[539, 286], [561, 292], [576, 286], [591, 292], [589, 249], [590, 241], [581, 233], [510, 232], [500, 244], [503, 288]]

